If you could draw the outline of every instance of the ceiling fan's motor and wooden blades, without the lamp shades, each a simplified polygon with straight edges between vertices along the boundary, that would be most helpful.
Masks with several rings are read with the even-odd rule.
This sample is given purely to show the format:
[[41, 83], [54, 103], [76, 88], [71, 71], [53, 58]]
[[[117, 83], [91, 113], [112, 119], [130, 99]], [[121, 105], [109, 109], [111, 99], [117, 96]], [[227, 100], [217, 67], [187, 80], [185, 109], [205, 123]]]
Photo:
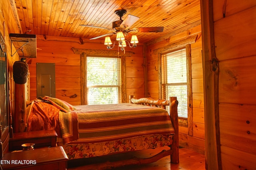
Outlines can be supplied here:
[[100, 28], [100, 29], [107, 29], [112, 31], [111, 33], [107, 33], [104, 35], [100, 35], [98, 37], [94, 37], [91, 39], [98, 39], [101, 37], [106, 37], [110, 36], [113, 34], [117, 34], [118, 32], [122, 31], [124, 36], [128, 35], [129, 32], [162, 32], [164, 31], [164, 27], [139, 27], [139, 28], [132, 28], [130, 27], [138, 21], [140, 18], [137, 16], [133, 16], [128, 14], [127, 17], [122, 20], [122, 16], [126, 14], [126, 10], [116, 10], [115, 14], [120, 17], [120, 20], [112, 22], [112, 29], [111, 28], [106, 28], [106, 27], [97, 27], [97, 26], [92, 26], [92, 25], [81, 25], [85, 27], [92, 27], [92, 28]]

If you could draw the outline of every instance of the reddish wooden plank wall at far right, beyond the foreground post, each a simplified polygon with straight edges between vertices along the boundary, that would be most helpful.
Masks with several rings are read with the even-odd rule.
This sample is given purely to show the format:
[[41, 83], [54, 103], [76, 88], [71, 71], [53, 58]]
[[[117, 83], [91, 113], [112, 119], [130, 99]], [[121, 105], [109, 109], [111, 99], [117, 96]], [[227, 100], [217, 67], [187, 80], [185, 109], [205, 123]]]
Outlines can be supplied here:
[[213, 0], [222, 169], [256, 169], [256, 1]]

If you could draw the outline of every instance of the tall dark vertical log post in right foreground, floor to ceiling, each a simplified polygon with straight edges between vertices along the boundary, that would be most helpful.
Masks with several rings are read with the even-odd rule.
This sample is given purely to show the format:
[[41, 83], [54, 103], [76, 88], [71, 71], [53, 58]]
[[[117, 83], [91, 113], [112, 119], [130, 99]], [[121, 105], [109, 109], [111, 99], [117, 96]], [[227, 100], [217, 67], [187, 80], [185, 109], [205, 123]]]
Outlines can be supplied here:
[[219, 61], [215, 53], [213, 0], [200, 0], [206, 170], [222, 170], [219, 119]]

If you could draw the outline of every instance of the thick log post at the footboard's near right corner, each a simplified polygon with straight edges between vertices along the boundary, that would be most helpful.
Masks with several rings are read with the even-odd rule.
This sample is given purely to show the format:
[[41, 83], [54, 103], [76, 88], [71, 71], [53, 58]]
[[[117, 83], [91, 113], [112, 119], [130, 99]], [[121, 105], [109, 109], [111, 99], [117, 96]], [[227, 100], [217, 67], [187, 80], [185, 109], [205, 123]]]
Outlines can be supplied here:
[[170, 104], [170, 118], [172, 121], [172, 125], [175, 131], [175, 135], [172, 137], [172, 145], [171, 148], [173, 150], [173, 154], [171, 155], [171, 162], [174, 164], [178, 164], [179, 160], [179, 124], [178, 124], [178, 100], [177, 97], [169, 98]]

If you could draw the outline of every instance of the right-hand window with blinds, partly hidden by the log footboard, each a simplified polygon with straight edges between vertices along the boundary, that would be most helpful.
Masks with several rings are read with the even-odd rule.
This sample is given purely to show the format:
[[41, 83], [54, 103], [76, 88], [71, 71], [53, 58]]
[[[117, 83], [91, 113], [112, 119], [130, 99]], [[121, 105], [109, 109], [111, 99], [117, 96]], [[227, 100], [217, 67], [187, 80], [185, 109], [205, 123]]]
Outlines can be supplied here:
[[177, 96], [178, 117], [188, 118], [186, 49], [161, 56], [162, 97]]

